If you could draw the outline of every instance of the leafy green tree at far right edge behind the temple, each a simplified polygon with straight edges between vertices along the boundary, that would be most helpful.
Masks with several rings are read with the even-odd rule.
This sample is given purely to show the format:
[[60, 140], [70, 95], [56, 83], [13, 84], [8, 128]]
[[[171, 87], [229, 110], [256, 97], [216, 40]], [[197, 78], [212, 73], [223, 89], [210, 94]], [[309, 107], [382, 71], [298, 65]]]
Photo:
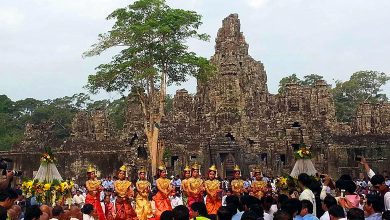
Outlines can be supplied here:
[[379, 103], [387, 101], [386, 94], [380, 93], [390, 77], [383, 72], [359, 71], [348, 81], [336, 81], [332, 89], [339, 121], [350, 122], [357, 107], [362, 103]]

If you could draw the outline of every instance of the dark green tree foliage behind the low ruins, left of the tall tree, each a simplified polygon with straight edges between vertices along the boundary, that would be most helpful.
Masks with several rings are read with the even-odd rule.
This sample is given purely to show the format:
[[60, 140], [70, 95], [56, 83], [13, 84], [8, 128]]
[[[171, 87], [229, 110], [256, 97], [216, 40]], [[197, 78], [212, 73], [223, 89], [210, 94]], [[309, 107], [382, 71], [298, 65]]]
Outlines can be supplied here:
[[[104, 104], [103, 104], [104, 103]], [[53, 100], [26, 98], [12, 101], [0, 95], [0, 150], [9, 150], [22, 141], [27, 123], [54, 123], [54, 135], [59, 140], [70, 136], [74, 115], [81, 110], [104, 109], [117, 129], [124, 122], [125, 98], [95, 101], [80, 93]]]

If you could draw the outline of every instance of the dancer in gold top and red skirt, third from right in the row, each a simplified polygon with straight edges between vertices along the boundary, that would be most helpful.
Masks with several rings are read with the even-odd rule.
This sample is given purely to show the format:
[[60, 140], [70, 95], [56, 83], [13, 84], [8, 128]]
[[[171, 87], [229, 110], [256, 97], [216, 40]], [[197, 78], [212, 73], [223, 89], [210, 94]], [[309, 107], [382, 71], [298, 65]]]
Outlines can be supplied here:
[[204, 182], [207, 193], [206, 209], [207, 213], [210, 215], [216, 215], [219, 207], [222, 205], [222, 200], [219, 195], [219, 192], [221, 192], [221, 189], [219, 188], [221, 182], [215, 179], [216, 174], [217, 168], [215, 165], [212, 165], [209, 168], [209, 179]]

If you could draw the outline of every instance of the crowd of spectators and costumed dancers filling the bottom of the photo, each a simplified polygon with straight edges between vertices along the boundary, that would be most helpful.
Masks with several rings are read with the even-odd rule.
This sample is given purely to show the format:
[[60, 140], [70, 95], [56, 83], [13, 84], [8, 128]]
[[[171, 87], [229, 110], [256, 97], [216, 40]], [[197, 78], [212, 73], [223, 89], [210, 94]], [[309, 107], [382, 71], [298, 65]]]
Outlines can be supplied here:
[[[375, 174], [361, 161], [367, 178], [342, 175], [333, 180], [326, 174], [298, 176], [296, 188], [281, 190], [276, 178], [264, 177], [259, 168], [245, 180], [234, 167], [232, 180], [216, 177], [211, 166], [201, 177], [199, 165], [186, 166], [183, 178], [168, 178], [164, 166], [152, 183], [146, 171], [138, 171], [133, 184], [122, 166], [115, 178], [98, 180], [89, 167], [85, 184], [76, 184], [72, 198], [55, 205], [25, 198], [20, 186], [0, 191], [0, 220], [122, 220], [122, 219], [243, 219], [243, 220], [336, 220], [390, 219], [390, 181]], [[7, 174], [8, 175], [8, 174]], [[10, 174], [11, 176], [11, 174]]]

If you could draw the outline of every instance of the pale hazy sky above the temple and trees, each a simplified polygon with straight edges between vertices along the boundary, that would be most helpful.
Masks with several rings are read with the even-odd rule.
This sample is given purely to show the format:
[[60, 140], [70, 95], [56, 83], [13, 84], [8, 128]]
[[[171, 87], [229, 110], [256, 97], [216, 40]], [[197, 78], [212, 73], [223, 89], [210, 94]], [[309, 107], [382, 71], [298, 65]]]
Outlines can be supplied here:
[[[83, 58], [110, 29], [107, 15], [133, 1], [0, 0], [0, 94], [16, 101], [53, 99], [87, 92], [88, 75], [115, 54]], [[348, 80], [360, 70], [390, 74], [390, 1], [388, 0], [167, 0], [174, 8], [203, 16], [201, 32], [210, 42], [189, 41], [201, 56], [214, 54], [223, 18], [237, 13], [249, 54], [261, 61], [268, 89], [296, 73], [323, 75], [328, 83]], [[168, 89], [196, 92], [196, 80]], [[384, 87], [390, 95], [390, 85]], [[102, 92], [95, 99], [118, 98]]]

